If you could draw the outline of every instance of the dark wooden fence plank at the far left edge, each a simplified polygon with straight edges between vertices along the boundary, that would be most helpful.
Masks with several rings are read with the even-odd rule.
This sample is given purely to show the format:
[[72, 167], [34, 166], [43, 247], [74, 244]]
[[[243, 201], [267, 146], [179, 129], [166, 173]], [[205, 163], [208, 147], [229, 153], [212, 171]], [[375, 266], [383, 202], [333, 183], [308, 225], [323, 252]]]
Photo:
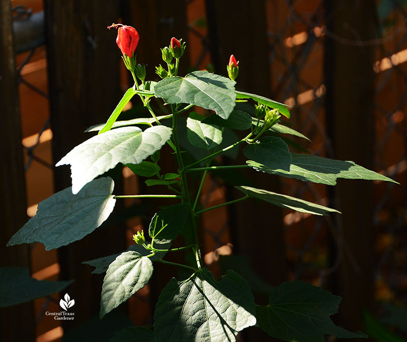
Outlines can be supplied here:
[[[27, 221], [21, 123], [17, 89], [17, 73], [13, 49], [10, 0], [0, 1], [0, 266], [30, 268], [27, 244], [6, 247], [11, 236]], [[3, 341], [34, 340], [33, 303], [2, 308], [0, 339]]]

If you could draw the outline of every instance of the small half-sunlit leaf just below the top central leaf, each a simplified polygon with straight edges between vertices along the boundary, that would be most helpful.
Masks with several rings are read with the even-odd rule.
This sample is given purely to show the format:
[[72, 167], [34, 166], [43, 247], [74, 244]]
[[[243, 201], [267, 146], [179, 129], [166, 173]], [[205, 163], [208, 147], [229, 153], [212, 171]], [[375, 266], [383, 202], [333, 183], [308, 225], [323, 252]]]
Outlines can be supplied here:
[[199, 148], [212, 149], [222, 142], [222, 131], [212, 125], [202, 123], [205, 116], [192, 112], [187, 119], [189, 142]]

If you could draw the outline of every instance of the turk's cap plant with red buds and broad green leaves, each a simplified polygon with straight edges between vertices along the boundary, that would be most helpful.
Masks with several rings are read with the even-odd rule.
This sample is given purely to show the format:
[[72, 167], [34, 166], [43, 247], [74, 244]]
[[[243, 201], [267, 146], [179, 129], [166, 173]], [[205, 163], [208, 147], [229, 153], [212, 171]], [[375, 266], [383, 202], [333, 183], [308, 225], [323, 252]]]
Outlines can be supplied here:
[[[335, 185], [337, 178], [394, 181], [353, 162], [290, 152], [281, 137], [289, 134], [307, 138], [279, 122], [281, 115], [290, 116], [286, 105], [236, 90], [234, 80], [239, 67], [233, 55], [227, 65], [230, 79], [207, 71], [178, 76], [185, 43], [172, 38], [168, 50], [176, 63], [172, 63], [167, 52], [164, 55], [163, 51], [168, 50], [162, 49], [167, 63], [167, 69], [161, 65], [157, 67], [162, 80], [145, 81], [145, 70], [135, 65], [136, 30], [126, 25], [113, 24], [111, 27], [118, 28], [118, 46], [134, 85], [126, 91], [105, 123], [88, 130], [99, 131], [98, 134], [76, 146], [56, 164], [71, 166], [72, 187], [42, 201], [37, 214], [12, 236], [8, 245], [38, 241], [46, 250], [58, 248], [97, 229], [110, 215], [117, 200], [170, 199], [176, 203], [162, 208], [152, 217], [149, 237], [146, 235], [149, 241], [146, 242], [141, 231], [133, 236], [136, 243], [127, 251], [86, 262], [96, 266], [94, 272], [106, 272], [101, 291], [101, 318], [146, 286], [154, 263], [160, 262], [183, 268], [189, 272], [188, 277], [182, 281], [171, 279], [158, 298], [154, 329], [133, 328], [133, 337], [147, 336], [146, 340], [151, 342], [235, 341], [239, 331], [256, 324], [271, 336], [287, 341], [323, 342], [326, 334], [339, 338], [366, 337], [362, 332], [350, 332], [333, 324], [330, 315], [337, 312], [341, 300], [338, 296], [294, 281], [270, 290], [267, 305], [256, 305], [242, 275], [228, 270], [217, 281], [201, 259], [197, 219], [203, 212], [249, 199], [315, 215], [338, 213], [336, 209], [244, 185], [236, 187], [242, 197], [211, 208], [202, 208], [199, 196], [208, 172], [222, 169], [248, 168], [328, 185]], [[141, 79], [142, 87], [137, 78]], [[149, 115], [118, 121], [123, 108], [136, 95]], [[160, 109], [157, 113], [151, 106], [152, 99], [163, 101], [160, 108], [168, 110]], [[239, 109], [237, 100], [254, 101], [252, 112], [255, 115]], [[190, 111], [194, 106], [206, 109], [208, 115]], [[246, 131], [247, 135], [240, 139], [235, 130]], [[160, 150], [164, 145], [172, 150], [178, 166], [161, 174]], [[247, 158], [245, 165], [213, 165], [216, 156], [236, 151], [241, 146], [244, 146], [243, 154]], [[186, 156], [185, 150], [193, 160]], [[118, 164], [146, 177], [148, 186], [161, 186], [164, 193], [113, 195], [114, 182], [103, 174]], [[190, 184], [190, 173], [201, 174], [201, 180], [195, 186]], [[261, 236], [261, 231], [256, 233]], [[180, 235], [184, 237], [184, 245], [171, 248], [172, 241]], [[192, 263], [165, 259], [168, 253], [184, 250], [193, 256]], [[118, 340], [120, 336], [124, 339], [124, 335], [125, 332], [119, 332]]]

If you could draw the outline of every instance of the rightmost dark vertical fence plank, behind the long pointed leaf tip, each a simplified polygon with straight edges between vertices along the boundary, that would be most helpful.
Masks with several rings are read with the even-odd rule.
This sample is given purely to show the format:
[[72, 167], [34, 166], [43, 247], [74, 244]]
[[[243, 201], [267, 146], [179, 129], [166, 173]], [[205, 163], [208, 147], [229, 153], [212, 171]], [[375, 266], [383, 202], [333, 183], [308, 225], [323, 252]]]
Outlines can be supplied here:
[[[338, 37], [365, 41], [375, 37], [374, 2], [326, 2], [328, 29]], [[327, 38], [327, 122], [335, 158], [373, 169], [374, 47], [343, 44]], [[338, 181], [334, 189], [338, 227], [344, 249], [336, 274], [346, 329], [363, 327], [363, 307], [373, 302], [373, 183]]]

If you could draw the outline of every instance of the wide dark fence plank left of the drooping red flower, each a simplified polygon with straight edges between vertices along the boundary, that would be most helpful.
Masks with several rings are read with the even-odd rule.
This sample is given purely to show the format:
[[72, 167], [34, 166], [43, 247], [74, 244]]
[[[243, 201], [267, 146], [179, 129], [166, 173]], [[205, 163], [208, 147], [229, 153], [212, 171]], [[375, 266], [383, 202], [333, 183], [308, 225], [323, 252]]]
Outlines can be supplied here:
[[[45, 2], [55, 163], [89, 139], [92, 134], [84, 134], [84, 129], [105, 122], [121, 98], [117, 33], [106, 29], [118, 21], [118, 6], [118, 2], [101, 4], [96, 0]], [[57, 191], [71, 186], [70, 181], [69, 167], [55, 169]], [[122, 192], [120, 182], [115, 183], [114, 191]], [[114, 212], [119, 207], [118, 201]], [[100, 227], [82, 240], [60, 248], [62, 277], [75, 279], [67, 291], [75, 299], [77, 314], [66, 329], [96, 315], [100, 307], [103, 275], [90, 274], [90, 268], [81, 263], [124, 248], [124, 224]]]

